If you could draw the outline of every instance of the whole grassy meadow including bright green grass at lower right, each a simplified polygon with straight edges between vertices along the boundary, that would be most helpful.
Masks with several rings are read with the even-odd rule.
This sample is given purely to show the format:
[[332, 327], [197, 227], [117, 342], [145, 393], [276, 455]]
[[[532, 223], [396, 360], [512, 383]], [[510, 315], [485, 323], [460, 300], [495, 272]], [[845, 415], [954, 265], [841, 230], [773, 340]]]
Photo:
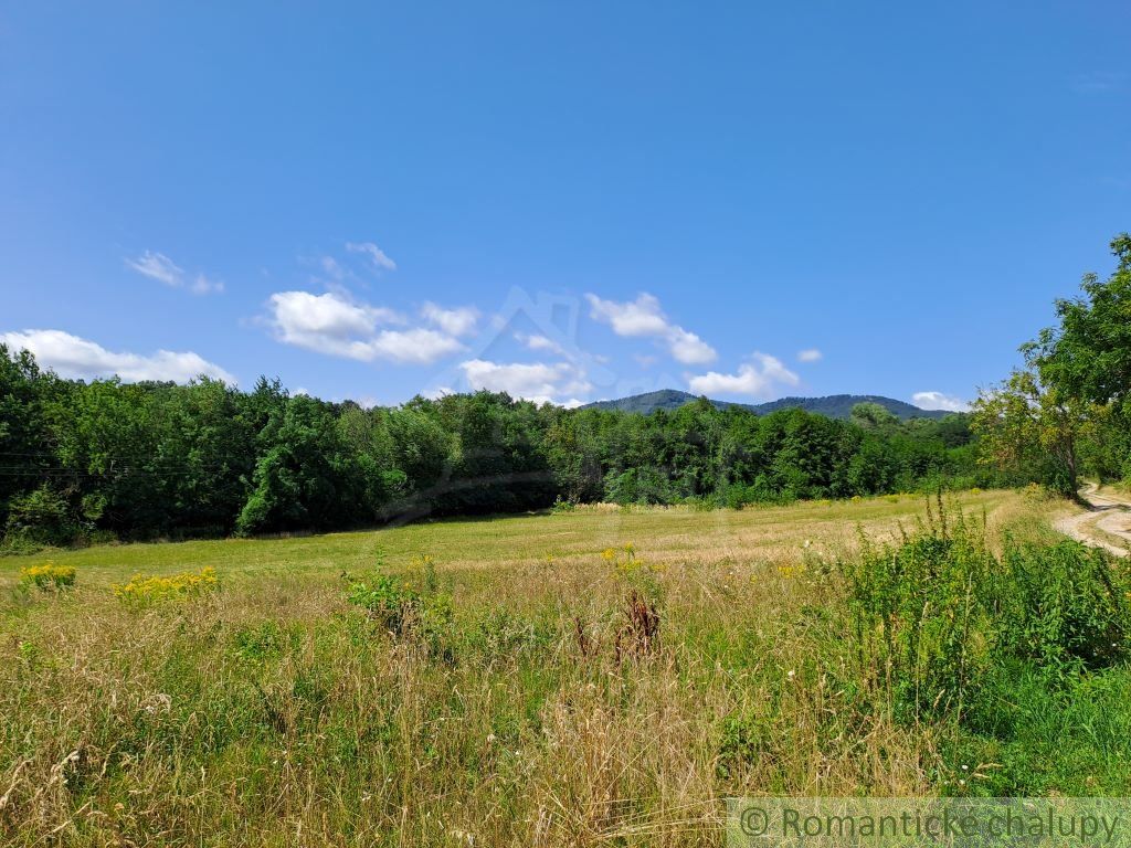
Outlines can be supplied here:
[[[869, 576], [899, 560], [862, 539], [916, 537], [921, 497], [2, 559], [2, 842], [713, 846], [728, 795], [1128, 794], [1122, 572], [1102, 609], [1062, 605], [1088, 620], [1057, 618], [1055, 644], [1028, 630], [1050, 630], [1039, 603], [1009, 633], [993, 618], [1013, 607], [991, 604], [992, 639], [900, 652], [915, 605], [952, 635], [990, 571], [1048, 595], [1033, 581], [1055, 563], [1093, 563], [1031, 560], [1067, 509], [935, 504], [882, 586]], [[75, 586], [20, 582], [46, 562]], [[216, 586], [121, 590], [204, 569]]]

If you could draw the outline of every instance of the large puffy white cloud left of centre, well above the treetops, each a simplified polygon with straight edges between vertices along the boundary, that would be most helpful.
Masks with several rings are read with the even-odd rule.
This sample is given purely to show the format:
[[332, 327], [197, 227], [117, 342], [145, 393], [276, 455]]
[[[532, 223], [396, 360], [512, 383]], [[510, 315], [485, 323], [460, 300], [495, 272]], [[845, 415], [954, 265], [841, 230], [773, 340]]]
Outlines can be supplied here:
[[405, 319], [394, 310], [356, 303], [337, 292], [277, 292], [268, 309], [279, 341], [330, 356], [428, 364], [464, 349], [454, 336], [439, 330], [383, 329]]

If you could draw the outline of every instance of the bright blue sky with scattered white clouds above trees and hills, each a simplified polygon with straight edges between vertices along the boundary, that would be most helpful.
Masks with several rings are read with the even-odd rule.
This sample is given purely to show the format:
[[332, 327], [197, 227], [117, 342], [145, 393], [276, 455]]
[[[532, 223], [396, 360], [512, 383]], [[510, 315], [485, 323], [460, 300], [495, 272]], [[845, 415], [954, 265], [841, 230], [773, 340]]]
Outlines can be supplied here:
[[967, 400], [1131, 227], [1129, 31], [1124, 0], [3, 3], [0, 338], [381, 404]]

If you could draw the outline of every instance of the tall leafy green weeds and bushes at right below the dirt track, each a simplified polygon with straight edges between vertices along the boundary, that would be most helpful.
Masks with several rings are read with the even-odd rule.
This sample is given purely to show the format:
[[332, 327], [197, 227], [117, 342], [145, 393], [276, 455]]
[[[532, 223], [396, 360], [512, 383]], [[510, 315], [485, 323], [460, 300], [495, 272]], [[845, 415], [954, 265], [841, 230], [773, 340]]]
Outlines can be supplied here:
[[1007, 538], [940, 508], [897, 546], [841, 563], [860, 668], [900, 720], [995, 727], [1003, 681], [1019, 668], [1047, 685], [1108, 668], [1128, 651], [1131, 580], [1103, 551]]

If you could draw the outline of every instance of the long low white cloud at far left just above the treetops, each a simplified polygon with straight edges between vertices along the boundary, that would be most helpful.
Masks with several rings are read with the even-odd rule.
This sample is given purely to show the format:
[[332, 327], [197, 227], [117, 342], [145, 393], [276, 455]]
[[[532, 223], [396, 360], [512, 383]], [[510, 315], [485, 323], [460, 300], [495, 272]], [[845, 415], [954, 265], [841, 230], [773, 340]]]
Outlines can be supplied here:
[[231, 373], [191, 351], [158, 351], [150, 356], [114, 353], [62, 330], [0, 334], [0, 344], [8, 345], [11, 349], [31, 351], [42, 366], [53, 370], [60, 377], [76, 380], [116, 374], [127, 382], [172, 380], [183, 383], [207, 374], [233, 386], [236, 383]]

